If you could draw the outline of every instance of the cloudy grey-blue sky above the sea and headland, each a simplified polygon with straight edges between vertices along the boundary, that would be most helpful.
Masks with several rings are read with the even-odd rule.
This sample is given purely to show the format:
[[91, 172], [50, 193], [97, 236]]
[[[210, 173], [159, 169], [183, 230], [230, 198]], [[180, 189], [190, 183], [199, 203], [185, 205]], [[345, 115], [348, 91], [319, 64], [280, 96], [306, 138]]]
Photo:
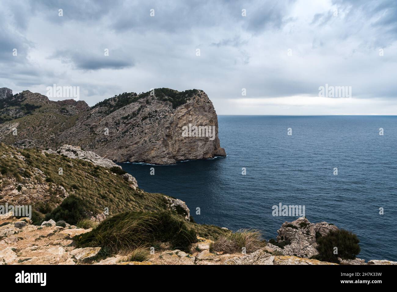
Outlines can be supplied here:
[[1, 0], [0, 39], [14, 93], [196, 88], [218, 115], [397, 115], [395, 0]]

